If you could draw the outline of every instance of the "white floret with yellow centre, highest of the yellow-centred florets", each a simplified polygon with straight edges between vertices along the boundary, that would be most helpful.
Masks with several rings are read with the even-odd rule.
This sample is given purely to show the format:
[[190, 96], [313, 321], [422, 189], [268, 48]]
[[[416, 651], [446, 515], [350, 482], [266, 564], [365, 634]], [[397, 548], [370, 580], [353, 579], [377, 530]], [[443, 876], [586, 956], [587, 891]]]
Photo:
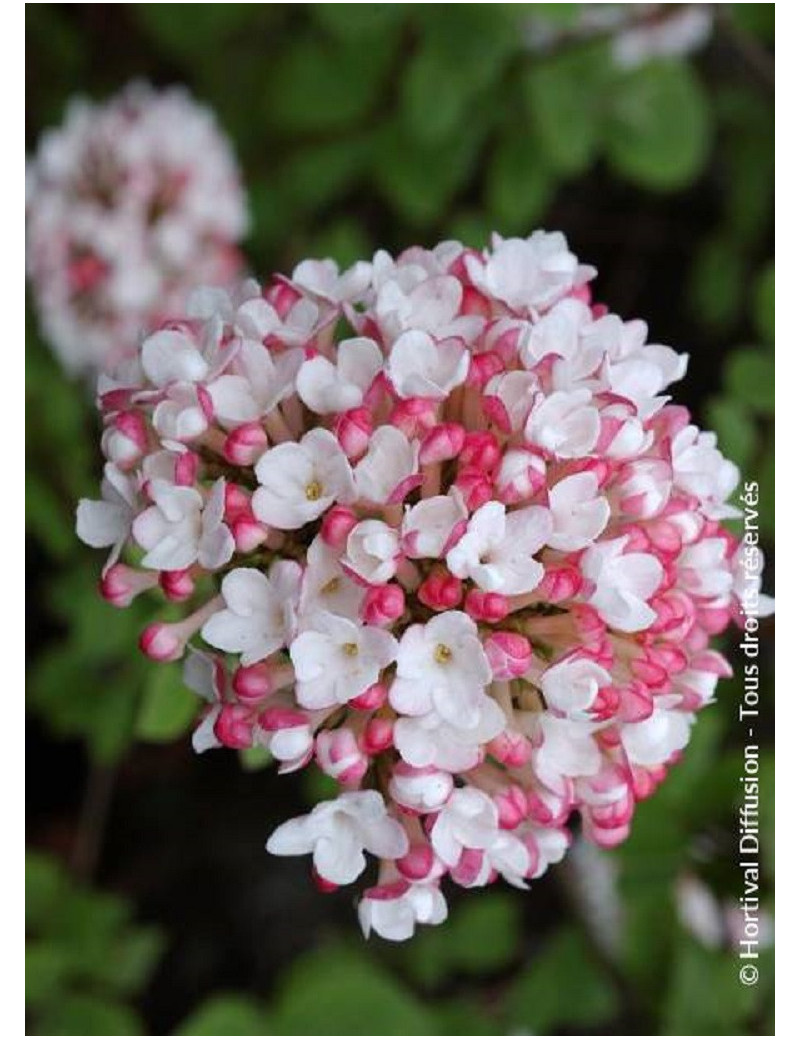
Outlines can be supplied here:
[[256, 464], [256, 476], [261, 487], [253, 494], [254, 514], [285, 530], [316, 520], [334, 501], [351, 501], [354, 494], [347, 458], [327, 430], [269, 448]]

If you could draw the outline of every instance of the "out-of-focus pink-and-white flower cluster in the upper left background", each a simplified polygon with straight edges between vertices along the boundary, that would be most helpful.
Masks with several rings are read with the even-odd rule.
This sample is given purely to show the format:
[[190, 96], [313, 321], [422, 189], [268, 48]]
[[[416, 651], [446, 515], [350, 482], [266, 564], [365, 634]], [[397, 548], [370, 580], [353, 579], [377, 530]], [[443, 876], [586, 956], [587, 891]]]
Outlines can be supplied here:
[[135, 357], [189, 287], [241, 266], [244, 197], [211, 111], [134, 83], [76, 101], [28, 170], [28, 268], [44, 332], [70, 371]]

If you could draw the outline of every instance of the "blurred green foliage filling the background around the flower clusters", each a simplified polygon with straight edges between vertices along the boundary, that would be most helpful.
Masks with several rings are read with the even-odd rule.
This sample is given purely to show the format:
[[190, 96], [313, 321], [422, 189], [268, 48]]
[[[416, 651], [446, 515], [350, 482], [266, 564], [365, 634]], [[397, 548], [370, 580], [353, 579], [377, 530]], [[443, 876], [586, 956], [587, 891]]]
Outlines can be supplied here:
[[[675, 235], [690, 228], [692, 250], [674, 307], [695, 342], [674, 345], [718, 370], [696, 418], [758, 479], [769, 547], [774, 5], [714, 5], [702, 54], [636, 69], [615, 64], [607, 31], [578, 31], [584, 6], [28, 5], [37, 70], [29, 144], [75, 93], [102, 98], [135, 76], [186, 83], [233, 138], [253, 216], [247, 251], [260, 277], [303, 256], [346, 264], [379, 246], [448, 236], [483, 245], [492, 230], [525, 234], [568, 212], [573, 194], [596, 203], [607, 187], [629, 200], [631, 226], [648, 200], [668, 199]], [[539, 49], [530, 43], [532, 22], [546, 30]], [[602, 208], [593, 212], [587, 220], [602, 225]], [[614, 234], [621, 250], [626, 228]], [[720, 356], [708, 361], [704, 350]], [[54, 738], [80, 738], [93, 761], [119, 763], [135, 740], [186, 740], [195, 699], [177, 666], [151, 665], [132, 650], [156, 597], [123, 612], [97, 597], [101, 561], [73, 526], [75, 502], [97, 494], [99, 483], [91, 394], [63, 376], [33, 319], [27, 366], [27, 523], [41, 610], [29, 705]], [[686, 760], [639, 808], [629, 841], [610, 854], [624, 911], [618, 959], [573, 921], [527, 934], [519, 902], [497, 890], [404, 948], [331, 939], [287, 964], [273, 994], [226, 988], [176, 1032], [768, 1034], [769, 954], [759, 985], [741, 986], [733, 953], [691, 938], [672, 900], [687, 872], [719, 899], [738, 894], [733, 851], [720, 837], [734, 833], [740, 798], [737, 696], [734, 682], [721, 687], [720, 709], [701, 717]], [[763, 710], [768, 719], [769, 703]], [[241, 758], [254, 770], [268, 762]], [[325, 780], [308, 772], [309, 801], [326, 797]], [[765, 750], [765, 906], [773, 787]], [[145, 1032], [136, 1000], [162, 946], [156, 932], [42, 855], [29, 855], [27, 887], [32, 1032]]]

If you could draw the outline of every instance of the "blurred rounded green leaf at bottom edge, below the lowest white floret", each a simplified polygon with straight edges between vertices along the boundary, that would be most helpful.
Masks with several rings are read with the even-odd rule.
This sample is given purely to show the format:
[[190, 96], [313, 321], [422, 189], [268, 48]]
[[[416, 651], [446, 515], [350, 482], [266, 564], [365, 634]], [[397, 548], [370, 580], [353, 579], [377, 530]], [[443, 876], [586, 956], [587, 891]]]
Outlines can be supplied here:
[[435, 1024], [375, 957], [341, 946], [294, 962], [273, 1017], [276, 1036], [425, 1036]]

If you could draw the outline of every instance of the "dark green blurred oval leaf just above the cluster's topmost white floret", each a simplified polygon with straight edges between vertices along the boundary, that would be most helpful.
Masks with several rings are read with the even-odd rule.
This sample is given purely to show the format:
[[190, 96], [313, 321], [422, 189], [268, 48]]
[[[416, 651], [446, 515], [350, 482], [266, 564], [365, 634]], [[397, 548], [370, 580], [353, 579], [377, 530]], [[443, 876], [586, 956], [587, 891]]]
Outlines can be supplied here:
[[533, 137], [516, 128], [494, 149], [487, 177], [487, 202], [498, 230], [520, 232], [538, 220], [552, 197], [552, 175]]

